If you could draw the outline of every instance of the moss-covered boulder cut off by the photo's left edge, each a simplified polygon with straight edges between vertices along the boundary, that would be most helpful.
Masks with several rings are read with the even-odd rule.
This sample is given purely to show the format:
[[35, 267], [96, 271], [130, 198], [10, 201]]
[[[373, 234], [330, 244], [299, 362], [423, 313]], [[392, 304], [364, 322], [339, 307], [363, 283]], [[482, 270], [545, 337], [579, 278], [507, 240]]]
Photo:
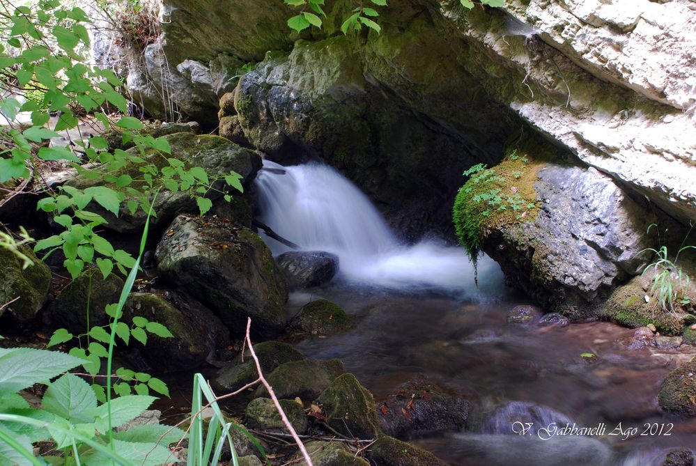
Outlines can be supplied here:
[[51, 270], [39, 261], [33, 251], [21, 246], [20, 251], [32, 265], [22, 269], [22, 261], [11, 251], [0, 248], [0, 316], [8, 315], [18, 323], [29, 323], [46, 302], [51, 287]]

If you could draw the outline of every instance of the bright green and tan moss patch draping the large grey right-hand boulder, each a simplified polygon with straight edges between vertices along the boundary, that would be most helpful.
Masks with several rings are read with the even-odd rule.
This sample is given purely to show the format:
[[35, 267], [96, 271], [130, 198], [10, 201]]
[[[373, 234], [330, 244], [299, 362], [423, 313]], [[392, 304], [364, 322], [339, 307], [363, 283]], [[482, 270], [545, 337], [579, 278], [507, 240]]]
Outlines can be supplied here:
[[489, 231], [532, 222], [539, 212], [534, 184], [550, 158], [550, 148], [534, 138], [520, 138], [514, 147], [497, 166], [473, 173], [454, 201], [456, 233], [474, 264], [481, 239]]

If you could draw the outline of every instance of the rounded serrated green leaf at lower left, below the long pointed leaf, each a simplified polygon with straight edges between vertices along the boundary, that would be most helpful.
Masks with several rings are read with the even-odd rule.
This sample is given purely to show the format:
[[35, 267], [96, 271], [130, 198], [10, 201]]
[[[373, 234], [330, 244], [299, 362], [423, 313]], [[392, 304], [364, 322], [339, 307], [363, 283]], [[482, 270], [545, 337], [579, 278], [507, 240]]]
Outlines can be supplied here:
[[41, 404], [45, 410], [73, 423], [90, 422], [88, 411], [97, 407], [97, 396], [87, 382], [72, 374], [65, 374], [51, 385]]

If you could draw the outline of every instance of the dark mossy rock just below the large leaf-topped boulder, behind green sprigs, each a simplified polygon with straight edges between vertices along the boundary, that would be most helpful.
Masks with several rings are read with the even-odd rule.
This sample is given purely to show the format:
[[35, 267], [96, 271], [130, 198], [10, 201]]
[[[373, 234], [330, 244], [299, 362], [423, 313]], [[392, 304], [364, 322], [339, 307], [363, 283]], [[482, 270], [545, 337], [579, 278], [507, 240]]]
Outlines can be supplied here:
[[148, 332], [146, 345], [131, 341], [126, 358], [148, 371], [183, 371], [206, 362], [229, 345], [229, 330], [209, 309], [185, 296], [168, 293], [172, 302], [154, 293], [131, 293], [123, 307], [123, 321], [136, 316], [164, 325], [173, 334], [162, 338]]

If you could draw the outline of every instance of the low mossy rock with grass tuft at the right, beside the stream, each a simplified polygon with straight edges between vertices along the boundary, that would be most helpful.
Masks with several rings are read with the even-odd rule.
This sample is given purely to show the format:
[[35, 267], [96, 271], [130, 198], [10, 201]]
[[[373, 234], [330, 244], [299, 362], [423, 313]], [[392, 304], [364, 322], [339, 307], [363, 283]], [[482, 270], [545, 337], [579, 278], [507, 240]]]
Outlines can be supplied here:
[[637, 328], [653, 324], [660, 333], [679, 335], [686, 323], [693, 319], [690, 314], [664, 311], [654, 297], [649, 302], [649, 277], [634, 277], [628, 284], [620, 286], [610, 295], [599, 311], [599, 316], [624, 327]]

